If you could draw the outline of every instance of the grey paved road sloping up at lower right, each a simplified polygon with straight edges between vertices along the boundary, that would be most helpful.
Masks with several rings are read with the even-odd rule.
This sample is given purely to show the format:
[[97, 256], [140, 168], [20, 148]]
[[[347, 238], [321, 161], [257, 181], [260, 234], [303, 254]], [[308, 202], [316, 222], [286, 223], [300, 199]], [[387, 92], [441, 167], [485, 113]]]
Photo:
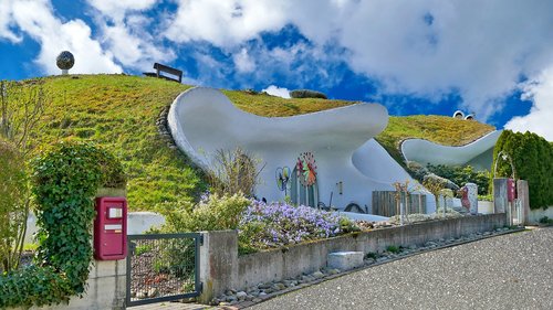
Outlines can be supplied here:
[[435, 250], [259, 303], [271, 309], [553, 309], [553, 228]]

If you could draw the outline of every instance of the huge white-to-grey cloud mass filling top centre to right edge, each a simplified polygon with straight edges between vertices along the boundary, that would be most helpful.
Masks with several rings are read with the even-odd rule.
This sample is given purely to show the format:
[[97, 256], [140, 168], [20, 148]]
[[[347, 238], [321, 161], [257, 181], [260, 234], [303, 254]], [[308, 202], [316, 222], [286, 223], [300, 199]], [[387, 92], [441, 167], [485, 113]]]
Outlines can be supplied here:
[[294, 24], [317, 46], [345, 47], [344, 61], [383, 94], [438, 101], [458, 93], [461, 108], [486, 120], [521, 76], [553, 63], [551, 11], [553, 2], [518, 0], [180, 0], [166, 35], [236, 50]]

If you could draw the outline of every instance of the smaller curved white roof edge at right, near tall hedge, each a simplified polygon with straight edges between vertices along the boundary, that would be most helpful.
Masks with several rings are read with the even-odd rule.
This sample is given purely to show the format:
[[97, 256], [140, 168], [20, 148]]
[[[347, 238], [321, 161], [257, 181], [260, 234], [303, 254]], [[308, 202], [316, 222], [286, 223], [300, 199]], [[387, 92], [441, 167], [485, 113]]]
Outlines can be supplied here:
[[465, 164], [493, 149], [501, 131], [492, 131], [461, 147], [442, 146], [424, 139], [408, 139], [401, 143], [401, 152], [406, 160], [425, 164]]

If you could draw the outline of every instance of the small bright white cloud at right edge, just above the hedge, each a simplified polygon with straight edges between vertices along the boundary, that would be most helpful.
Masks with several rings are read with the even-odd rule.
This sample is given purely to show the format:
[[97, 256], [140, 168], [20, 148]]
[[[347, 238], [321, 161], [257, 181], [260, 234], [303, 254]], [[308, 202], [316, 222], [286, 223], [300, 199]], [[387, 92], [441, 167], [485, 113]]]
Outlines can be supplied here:
[[523, 92], [523, 98], [533, 101], [530, 114], [512, 118], [505, 128], [520, 132], [532, 131], [553, 141], [553, 66], [536, 81], [528, 83]]

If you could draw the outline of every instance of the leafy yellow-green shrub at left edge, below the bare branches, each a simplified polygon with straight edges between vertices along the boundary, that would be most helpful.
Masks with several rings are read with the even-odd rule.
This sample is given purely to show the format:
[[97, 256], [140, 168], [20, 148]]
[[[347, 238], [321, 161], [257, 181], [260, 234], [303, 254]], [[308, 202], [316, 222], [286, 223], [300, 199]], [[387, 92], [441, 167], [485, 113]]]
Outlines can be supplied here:
[[0, 138], [0, 272], [18, 268], [29, 214], [22, 153]]

